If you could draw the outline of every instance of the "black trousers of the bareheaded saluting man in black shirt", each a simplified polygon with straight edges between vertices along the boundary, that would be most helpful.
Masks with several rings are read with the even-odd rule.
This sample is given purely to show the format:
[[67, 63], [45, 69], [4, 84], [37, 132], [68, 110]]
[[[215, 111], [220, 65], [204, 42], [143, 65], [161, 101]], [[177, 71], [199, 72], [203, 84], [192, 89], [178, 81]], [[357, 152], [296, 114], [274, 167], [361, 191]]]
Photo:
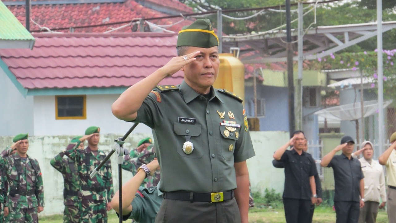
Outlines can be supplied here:
[[283, 198], [287, 223], [310, 223], [311, 200]]

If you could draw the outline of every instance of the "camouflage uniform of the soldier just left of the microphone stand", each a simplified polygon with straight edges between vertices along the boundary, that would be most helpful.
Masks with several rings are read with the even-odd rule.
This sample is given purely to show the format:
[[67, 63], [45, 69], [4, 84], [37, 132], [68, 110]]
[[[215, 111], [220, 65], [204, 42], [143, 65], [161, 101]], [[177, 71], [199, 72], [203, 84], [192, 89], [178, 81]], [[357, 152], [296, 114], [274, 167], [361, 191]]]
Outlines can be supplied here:
[[67, 150], [65, 155], [69, 156], [78, 165], [82, 198], [80, 202], [80, 222], [107, 223], [106, 204], [111, 202], [114, 195], [110, 160], [91, 179], [89, 174], [105, 159], [106, 154], [104, 152], [97, 150], [95, 156], [88, 146], [84, 150]]

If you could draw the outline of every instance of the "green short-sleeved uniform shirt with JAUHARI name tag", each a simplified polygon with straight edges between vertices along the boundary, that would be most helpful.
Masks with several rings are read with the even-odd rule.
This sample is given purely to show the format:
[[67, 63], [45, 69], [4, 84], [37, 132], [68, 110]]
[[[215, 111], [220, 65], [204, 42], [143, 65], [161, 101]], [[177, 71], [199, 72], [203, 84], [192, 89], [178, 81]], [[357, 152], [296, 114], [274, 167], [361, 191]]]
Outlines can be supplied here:
[[[232, 93], [213, 87], [209, 101], [184, 81], [179, 88], [173, 87], [175, 90], [154, 89], [135, 119], [152, 128], [158, 145], [155, 149], [161, 167], [160, 190], [235, 189], [234, 162], [255, 155], [242, 102]], [[183, 152], [186, 141], [194, 147], [190, 154]]]

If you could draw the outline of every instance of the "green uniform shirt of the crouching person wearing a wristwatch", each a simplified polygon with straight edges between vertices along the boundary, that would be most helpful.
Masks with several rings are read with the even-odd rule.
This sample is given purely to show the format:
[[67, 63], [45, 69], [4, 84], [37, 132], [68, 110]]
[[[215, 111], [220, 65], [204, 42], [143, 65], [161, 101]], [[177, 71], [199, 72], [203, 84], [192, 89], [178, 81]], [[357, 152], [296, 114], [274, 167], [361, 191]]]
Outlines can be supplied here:
[[[124, 213], [122, 220], [133, 219], [139, 223], [154, 223], [162, 200], [164, 200], [161, 195], [162, 193], [156, 186], [149, 188], [140, 186], [131, 203], [132, 211]], [[120, 216], [118, 213], [117, 215]]]

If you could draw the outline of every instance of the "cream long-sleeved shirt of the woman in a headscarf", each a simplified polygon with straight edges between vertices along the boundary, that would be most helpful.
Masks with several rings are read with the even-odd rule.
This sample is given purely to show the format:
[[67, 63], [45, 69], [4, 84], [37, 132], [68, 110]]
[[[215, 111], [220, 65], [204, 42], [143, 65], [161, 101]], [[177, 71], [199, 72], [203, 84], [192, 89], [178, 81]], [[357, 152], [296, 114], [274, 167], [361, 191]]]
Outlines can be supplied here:
[[380, 197], [386, 202], [384, 169], [378, 161], [371, 164], [364, 158], [359, 159], [364, 174], [364, 200], [380, 203]]

